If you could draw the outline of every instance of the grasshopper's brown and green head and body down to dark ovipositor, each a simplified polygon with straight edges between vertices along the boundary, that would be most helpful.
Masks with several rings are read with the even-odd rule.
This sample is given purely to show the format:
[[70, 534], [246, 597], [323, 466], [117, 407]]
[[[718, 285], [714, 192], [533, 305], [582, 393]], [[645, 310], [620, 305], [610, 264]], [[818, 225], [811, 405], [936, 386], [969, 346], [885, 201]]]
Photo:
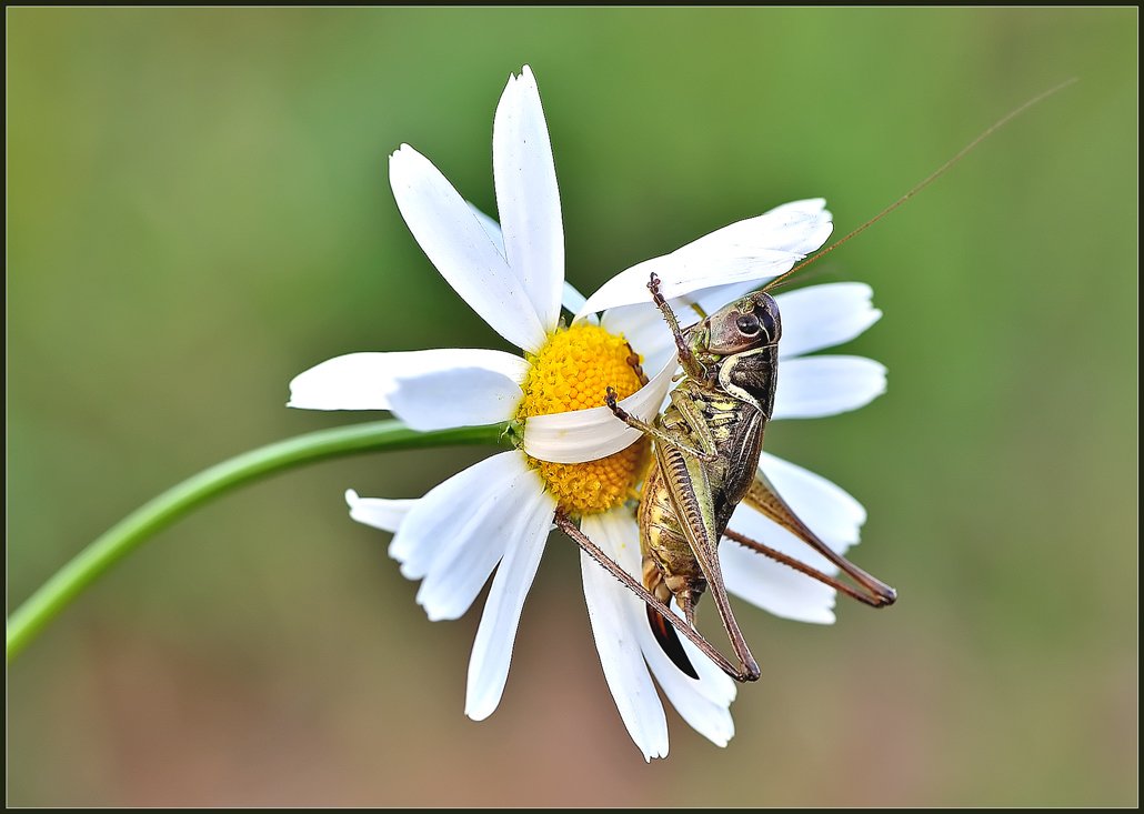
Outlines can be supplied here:
[[[724, 605], [717, 541], [755, 479], [774, 404], [781, 322], [774, 300], [758, 293], [681, 332], [657, 281], [649, 287], [677, 337], [684, 380], [651, 433], [656, 465], [638, 511], [643, 582], [665, 604], [674, 598], [693, 624], [708, 573]], [[673, 661], [694, 675], [668, 621], [651, 607], [648, 616]], [[734, 640], [738, 627], [730, 619]], [[744, 678], [757, 677], [749, 653], [744, 668]]]

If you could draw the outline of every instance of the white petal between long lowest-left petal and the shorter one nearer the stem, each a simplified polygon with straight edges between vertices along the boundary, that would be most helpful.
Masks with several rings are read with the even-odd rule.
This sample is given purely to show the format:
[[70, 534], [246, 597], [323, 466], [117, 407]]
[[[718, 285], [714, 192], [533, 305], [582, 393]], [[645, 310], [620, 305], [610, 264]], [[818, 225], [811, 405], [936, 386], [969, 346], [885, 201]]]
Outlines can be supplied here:
[[418, 590], [418, 605], [429, 619], [436, 622], [462, 616], [503, 557], [508, 541], [519, 537], [542, 508], [550, 516], [555, 506], [537, 472], [530, 469], [480, 505], [468, 506], [470, 513], [463, 527], [445, 542]]

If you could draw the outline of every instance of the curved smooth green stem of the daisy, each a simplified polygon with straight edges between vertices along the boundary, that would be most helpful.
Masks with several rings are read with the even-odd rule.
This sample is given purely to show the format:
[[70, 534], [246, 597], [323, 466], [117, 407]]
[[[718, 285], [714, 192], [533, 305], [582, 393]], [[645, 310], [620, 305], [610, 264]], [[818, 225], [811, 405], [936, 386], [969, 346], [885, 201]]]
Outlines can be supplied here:
[[97, 576], [144, 540], [216, 495], [326, 458], [459, 444], [503, 444], [510, 433], [508, 424], [418, 432], [399, 421], [375, 421], [288, 438], [215, 464], [136, 509], [53, 574], [8, 617], [8, 661]]

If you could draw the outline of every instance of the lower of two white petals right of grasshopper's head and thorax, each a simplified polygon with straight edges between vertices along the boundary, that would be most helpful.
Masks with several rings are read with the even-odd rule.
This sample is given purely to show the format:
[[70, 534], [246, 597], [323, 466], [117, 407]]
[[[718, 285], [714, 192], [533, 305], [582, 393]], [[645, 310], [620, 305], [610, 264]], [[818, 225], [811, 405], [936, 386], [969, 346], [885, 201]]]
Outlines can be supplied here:
[[885, 392], [885, 367], [864, 357], [800, 357], [779, 362], [772, 418], [819, 418], [868, 405]]

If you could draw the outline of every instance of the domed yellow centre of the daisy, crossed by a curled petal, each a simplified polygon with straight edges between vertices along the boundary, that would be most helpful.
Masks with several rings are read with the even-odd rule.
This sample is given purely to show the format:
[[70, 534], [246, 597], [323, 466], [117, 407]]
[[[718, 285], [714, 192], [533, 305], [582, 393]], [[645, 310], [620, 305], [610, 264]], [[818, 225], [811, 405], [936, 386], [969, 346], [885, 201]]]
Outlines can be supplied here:
[[[579, 322], [550, 334], [522, 385], [517, 418], [565, 413], [604, 405], [609, 386], [622, 399], [641, 386], [639, 358], [620, 336], [598, 325]], [[529, 457], [547, 489], [569, 514], [594, 514], [620, 505], [644, 474], [650, 457], [646, 439], [585, 463], [550, 463]]]

